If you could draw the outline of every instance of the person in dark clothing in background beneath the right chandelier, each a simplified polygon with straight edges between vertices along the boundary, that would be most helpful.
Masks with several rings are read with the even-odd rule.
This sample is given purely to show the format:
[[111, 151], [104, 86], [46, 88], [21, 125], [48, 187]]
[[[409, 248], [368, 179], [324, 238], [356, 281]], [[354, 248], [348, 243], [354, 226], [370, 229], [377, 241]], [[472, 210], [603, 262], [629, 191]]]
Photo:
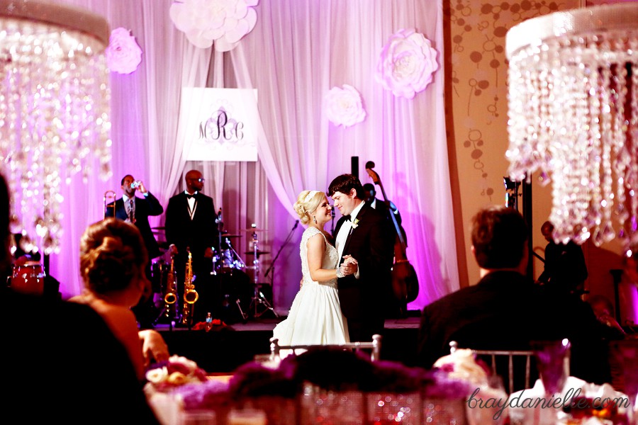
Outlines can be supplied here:
[[581, 246], [572, 241], [556, 244], [552, 237], [554, 225], [551, 222], [544, 222], [541, 232], [548, 244], [545, 247], [544, 271], [538, 283], [547, 285], [548, 289], [568, 293], [583, 290], [588, 273]]

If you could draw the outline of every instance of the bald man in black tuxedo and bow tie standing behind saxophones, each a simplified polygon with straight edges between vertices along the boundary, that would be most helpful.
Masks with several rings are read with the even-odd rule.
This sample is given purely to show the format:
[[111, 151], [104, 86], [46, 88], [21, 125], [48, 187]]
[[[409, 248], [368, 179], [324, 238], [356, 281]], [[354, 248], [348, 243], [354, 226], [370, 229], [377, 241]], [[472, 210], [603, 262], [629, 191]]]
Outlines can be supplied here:
[[[202, 295], [212, 294], [207, 288], [211, 285], [211, 270], [214, 250], [218, 249], [218, 217], [213, 198], [201, 193], [204, 179], [200, 171], [191, 170], [186, 173], [186, 191], [169, 199], [166, 208], [166, 241], [169, 251], [175, 257], [177, 272], [177, 292], [179, 295], [179, 311], [183, 303], [184, 273], [186, 271], [187, 249], [191, 252], [195, 290]], [[212, 295], [211, 295], [212, 296]], [[194, 305], [196, 319], [206, 316], [203, 305], [212, 302], [198, 300]], [[197, 305], [199, 304], [199, 305]], [[199, 307], [199, 308], [198, 308]]]

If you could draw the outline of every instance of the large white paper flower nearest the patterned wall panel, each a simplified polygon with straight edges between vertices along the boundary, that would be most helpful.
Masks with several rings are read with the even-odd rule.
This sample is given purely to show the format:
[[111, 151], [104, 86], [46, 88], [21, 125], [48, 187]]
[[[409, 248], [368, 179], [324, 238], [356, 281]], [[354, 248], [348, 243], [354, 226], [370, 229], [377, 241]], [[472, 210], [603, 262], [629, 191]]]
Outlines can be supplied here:
[[430, 40], [403, 29], [391, 35], [381, 50], [375, 77], [394, 96], [411, 99], [432, 82], [437, 69], [437, 51]]

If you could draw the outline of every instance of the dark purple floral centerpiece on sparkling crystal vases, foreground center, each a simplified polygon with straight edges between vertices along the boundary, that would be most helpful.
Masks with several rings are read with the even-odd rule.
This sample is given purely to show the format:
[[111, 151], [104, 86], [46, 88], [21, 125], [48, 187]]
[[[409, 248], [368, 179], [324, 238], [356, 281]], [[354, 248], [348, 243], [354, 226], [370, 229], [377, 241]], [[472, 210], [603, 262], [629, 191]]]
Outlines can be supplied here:
[[[461, 398], [469, 392], [469, 385], [449, 378], [440, 370], [411, 368], [395, 361], [373, 362], [368, 354], [317, 347], [283, 358], [277, 368], [259, 363], [242, 365], [230, 380], [229, 391], [235, 398], [295, 397], [300, 406], [296, 419], [291, 419], [294, 424], [314, 424], [320, 419], [335, 420], [335, 423], [372, 420], [385, 424], [401, 420], [406, 424], [420, 424], [426, 415], [422, 408], [432, 407], [432, 412], [438, 414], [440, 400], [454, 403], [455, 411], [449, 406], [446, 408], [448, 412], [460, 412], [461, 419], [457, 423], [462, 424]], [[424, 403], [423, 397], [435, 402]], [[428, 418], [432, 412], [427, 414]], [[269, 423], [286, 423], [273, 419], [269, 413]]]

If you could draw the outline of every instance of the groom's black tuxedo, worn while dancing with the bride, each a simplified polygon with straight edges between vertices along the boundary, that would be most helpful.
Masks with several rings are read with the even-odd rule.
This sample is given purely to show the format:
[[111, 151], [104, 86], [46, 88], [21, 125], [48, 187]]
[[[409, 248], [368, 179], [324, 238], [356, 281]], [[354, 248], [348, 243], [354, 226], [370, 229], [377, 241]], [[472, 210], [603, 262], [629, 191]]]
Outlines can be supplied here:
[[[337, 221], [334, 237], [349, 217]], [[368, 341], [384, 328], [384, 297], [392, 283], [394, 234], [382, 212], [365, 205], [357, 214], [357, 228], [346, 239], [342, 256], [359, 262], [359, 279], [337, 279], [341, 310], [348, 321], [351, 341]], [[340, 263], [343, 258], [340, 259]], [[357, 328], [362, 329], [360, 334]], [[354, 331], [354, 334], [352, 333]]]

